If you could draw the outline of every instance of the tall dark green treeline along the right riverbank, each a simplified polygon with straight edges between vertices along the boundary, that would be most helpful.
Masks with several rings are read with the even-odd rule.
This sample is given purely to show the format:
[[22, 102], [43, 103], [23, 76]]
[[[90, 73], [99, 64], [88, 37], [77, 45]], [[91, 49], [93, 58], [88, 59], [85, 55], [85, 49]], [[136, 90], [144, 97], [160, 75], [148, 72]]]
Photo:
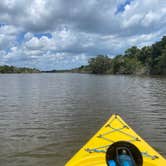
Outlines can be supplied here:
[[87, 66], [78, 68], [77, 72], [166, 75], [166, 36], [151, 46], [133, 46], [115, 58], [98, 55], [91, 58]]

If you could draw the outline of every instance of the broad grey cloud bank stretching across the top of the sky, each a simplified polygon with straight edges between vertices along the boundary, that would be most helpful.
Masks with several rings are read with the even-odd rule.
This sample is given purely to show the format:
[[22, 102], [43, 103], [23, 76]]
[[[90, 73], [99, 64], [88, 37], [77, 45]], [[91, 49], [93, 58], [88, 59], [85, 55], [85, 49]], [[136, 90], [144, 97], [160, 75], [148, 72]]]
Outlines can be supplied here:
[[[115, 14], [118, 6], [123, 10]], [[67, 27], [86, 33], [132, 35], [136, 26], [141, 33], [145, 27], [159, 28], [156, 22], [163, 22], [165, 8], [163, 0], [6, 0], [0, 2], [0, 20], [35, 33]], [[133, 29], [125, 32], [127, 28]]]

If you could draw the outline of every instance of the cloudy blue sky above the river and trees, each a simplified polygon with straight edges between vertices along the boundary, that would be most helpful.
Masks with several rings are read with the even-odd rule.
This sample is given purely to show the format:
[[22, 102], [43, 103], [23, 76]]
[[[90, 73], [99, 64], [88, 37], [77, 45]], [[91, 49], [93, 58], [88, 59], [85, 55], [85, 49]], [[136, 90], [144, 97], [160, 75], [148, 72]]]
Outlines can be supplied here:
[[164, 35], [166, 0], [0, 1], [0, 65], [71, 69]]

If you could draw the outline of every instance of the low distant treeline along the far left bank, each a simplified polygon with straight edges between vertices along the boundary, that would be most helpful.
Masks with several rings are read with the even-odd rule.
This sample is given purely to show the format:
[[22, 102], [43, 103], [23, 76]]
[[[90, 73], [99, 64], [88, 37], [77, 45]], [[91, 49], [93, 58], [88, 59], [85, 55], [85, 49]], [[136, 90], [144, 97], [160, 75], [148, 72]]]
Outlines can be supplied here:
[[39, 73], [35, 68], [15, 67], [15, 66], [0, 66], [0, 73]]

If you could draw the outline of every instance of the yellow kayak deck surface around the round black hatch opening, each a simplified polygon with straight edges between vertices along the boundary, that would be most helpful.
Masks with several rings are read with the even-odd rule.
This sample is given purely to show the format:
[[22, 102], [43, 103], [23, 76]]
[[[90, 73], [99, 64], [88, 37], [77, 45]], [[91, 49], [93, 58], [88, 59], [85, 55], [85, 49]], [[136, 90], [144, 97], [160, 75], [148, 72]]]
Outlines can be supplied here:
[[119, 115], [106, 124], [66, 163], [66, 166], [106, 166], [106, 151], [117, 141], [128, 141], [142, 153], [143, 166], [164, 166], [166, 160], [136, 134]]

